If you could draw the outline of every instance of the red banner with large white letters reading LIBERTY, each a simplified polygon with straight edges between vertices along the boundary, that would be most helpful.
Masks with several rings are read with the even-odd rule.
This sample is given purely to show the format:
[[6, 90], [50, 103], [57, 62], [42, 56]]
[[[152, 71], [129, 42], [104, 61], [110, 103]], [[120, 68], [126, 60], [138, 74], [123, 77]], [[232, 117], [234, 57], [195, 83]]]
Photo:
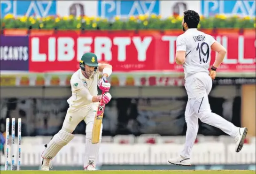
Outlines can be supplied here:
[[[114, 73], [183, 73], [175, 63], [176, 39], [182, 32], [88, 31], [30, 37], [30, 72], [74, 72], [83, 53], [94, 52]], [[225, 76], [255, 75], [255, 33], [212, 34], [227, 49], [218, 68]], [[47, 46], [46, 46], [47, 45]], [[211, 53], [211, 65], [216, 53]], [[39, 66], [40, 65], [40, 66]]]

